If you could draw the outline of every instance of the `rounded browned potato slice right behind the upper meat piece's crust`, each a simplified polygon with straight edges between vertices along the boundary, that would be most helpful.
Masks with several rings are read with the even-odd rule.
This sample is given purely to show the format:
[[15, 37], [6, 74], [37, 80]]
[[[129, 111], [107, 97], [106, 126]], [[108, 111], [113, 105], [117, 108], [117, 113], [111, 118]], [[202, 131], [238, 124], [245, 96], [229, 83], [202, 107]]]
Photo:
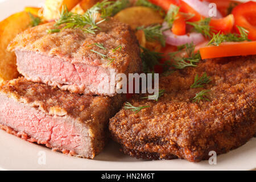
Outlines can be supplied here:
[[120, 22], [127, 23], [134, 30], [139, 26], [163, 23], [162, 16], [150, 7], [134, 6], [120, 11], [114, 16]]

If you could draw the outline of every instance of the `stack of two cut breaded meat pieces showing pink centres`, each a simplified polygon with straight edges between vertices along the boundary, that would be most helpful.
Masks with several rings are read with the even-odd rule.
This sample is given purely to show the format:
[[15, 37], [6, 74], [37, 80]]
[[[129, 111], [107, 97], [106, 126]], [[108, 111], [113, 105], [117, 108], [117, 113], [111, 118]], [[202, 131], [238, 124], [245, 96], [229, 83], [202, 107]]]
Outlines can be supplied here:
[[48, 34], [54, 23], [47, 23], [16, 36], [9, 49], [24, 77], [0, 87], [2, 129], [83, 158], [102, 150], [109, 118], [125, 97], [101, 85], [110, 84], [110, 72], [139, 72], [141, 59], [129, 26], [110, 19], [99, 27], [96, 34]]

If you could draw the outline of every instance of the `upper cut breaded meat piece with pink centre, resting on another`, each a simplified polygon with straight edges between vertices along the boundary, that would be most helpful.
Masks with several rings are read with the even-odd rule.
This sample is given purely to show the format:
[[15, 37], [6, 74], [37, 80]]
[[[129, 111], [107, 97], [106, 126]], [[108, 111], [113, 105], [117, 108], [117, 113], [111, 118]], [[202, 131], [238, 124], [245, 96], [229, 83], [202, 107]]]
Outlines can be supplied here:
[[[79, 28], [48, 34], [54, 23], [43, 24], [16, 36], [9, 50], [15, 51], [18, 71], [29, 81], [72, 93], [114, 96], [110, 71], [126, 75], [140, 72], [140, 49], [126, 24], [110, 19], [99, 26], [96, 34]], [[115, 89], [121, 88], [117, 83], [113, 83]]]

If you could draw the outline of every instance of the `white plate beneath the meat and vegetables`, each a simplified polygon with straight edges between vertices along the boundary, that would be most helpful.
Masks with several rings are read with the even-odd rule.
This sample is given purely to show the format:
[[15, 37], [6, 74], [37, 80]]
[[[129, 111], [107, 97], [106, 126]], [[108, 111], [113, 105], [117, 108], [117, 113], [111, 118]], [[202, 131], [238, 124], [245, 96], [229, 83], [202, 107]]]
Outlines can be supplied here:
[[[24, 6], [40, 6], [42, 0], [0, 0], [0, 20], [21, 11]], [[217, 164], [208, 161], [137, 160], [123, 155], [110, 142], [95, 160], [80, 159], [26, 142], [0, 130], [0, 169], [6, 170], [251, 170], [256, 168], [256, 138], [236, 150], [217, 156]], [[43, 157], [46, 157], [44, 162]]]

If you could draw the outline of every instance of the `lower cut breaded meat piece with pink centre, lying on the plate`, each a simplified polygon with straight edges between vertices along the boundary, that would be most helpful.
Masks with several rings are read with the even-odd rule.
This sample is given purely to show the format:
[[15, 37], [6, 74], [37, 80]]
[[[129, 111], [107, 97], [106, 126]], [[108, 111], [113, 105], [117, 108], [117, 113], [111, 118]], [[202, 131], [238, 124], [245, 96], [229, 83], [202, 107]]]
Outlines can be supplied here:
[[30, 142], [93, 159], [123, 96], [81, 96], [25, 78], [0, 86], [0, 127]]

